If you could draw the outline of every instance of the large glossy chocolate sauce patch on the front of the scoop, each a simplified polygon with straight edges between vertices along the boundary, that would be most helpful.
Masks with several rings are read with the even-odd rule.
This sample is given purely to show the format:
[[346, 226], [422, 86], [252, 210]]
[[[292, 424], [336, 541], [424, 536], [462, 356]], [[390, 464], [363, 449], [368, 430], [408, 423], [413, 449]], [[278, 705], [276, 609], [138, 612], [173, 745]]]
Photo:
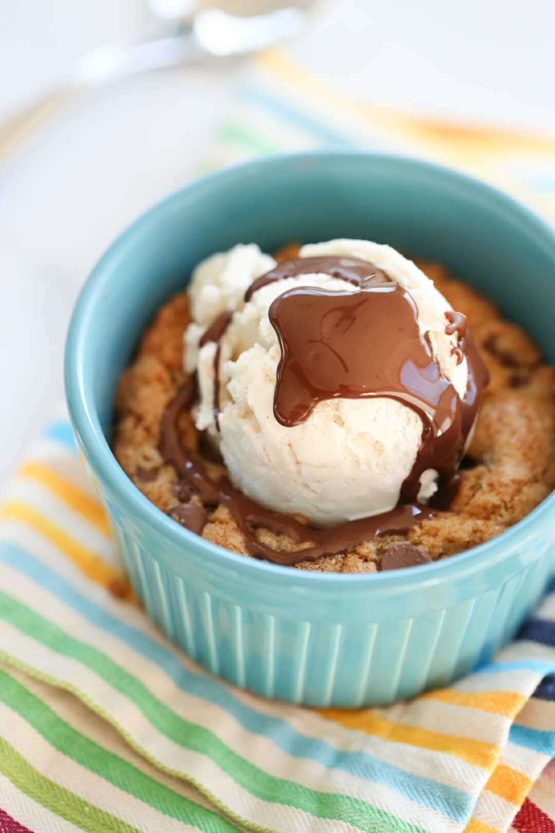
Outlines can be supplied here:
[[280, 425], [299, 425], [326, 399], [384, 396], [413, 408], [428, 433], [453, 421], [457, 393], [440, 374], [420, 336], [414, 301], [398, 283], [358, 292], [295, 287], [275, 299], [269, 317], [281, 347], [274, 397]]

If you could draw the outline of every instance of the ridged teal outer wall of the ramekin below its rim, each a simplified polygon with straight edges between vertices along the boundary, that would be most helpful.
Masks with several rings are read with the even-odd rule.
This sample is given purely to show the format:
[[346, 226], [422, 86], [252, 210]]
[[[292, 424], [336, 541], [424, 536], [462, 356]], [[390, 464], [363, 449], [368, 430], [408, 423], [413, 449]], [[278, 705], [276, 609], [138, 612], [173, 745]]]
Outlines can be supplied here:
[[507, 581], [451, 606], [344, 624], [235, 604], [167, 569], [113, 516], [111, 526], [136, 596], [191, 659], [236, 686], [319, 707], [384, 705], [482, 665], [538, 603], [555, 556], [544, 546]]

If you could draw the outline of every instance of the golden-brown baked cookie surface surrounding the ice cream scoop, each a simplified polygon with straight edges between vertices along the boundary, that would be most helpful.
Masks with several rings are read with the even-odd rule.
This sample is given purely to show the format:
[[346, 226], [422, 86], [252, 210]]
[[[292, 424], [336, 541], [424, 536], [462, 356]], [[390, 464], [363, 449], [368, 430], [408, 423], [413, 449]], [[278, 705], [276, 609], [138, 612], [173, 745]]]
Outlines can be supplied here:
[[[295, 257], [292, 245], [277, 259]], [[467, 284], [453, 280], [436, 263], [417, 262], [451, 303], [468, 318], [474, 341], [488, 366], [490, 382], [472, 443], [459, 471], [460, 486], [448, 511], [423, 521], [406, 536], [366, 541], [340, 556], [300, 561], [300, 570], [375, 572], [386, 551], [401, 542], [418, 546], [433, 561], [488, 541], [520, 521], [555, 488], [555, 369], [542, 363], [538, 348], [516, 324]], [[114, 454], [133, 483], [161, 511], [180, 502], [177, 476], [158, 452], [162, 413], [186, 381], [182, 370], [183, 333], [191, 322], [186, 295], [171, 298], [142, 337], [136, 360], [121, 377], [116, 396]], [[202, 456], [202, 437], [188, 413], [181, 415], [184, 445]], [[225, 470], [209, 457], [215, 478]], [[193, 499], [194, 500], [194, 499]], [[207, 516], [202, 536], [246, 555], [235, 521], [223, 506]], [[298, 542], [259, 530], [276, 550], [295, 551]], [[307, 530], [305, 546], [310, 546]], [[385, 565], [384, 565], [385, 566]]]

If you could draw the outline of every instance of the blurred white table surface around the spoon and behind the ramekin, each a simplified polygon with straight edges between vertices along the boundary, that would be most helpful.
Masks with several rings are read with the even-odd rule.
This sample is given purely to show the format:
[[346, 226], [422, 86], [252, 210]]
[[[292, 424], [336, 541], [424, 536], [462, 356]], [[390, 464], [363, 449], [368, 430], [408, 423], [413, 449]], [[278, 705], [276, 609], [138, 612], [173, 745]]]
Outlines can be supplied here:
[[[87, 49], [140, 31], [139, 0], [0, 7], [0, 117]], [[551, 0], [330, 0], [290, 46], [369, 102], [555, 134]], [[0, 490], [62, 398], [79, 287], [107, 244], [200, 164], [238, 67], [137, 77], [65, 112], [0, 170]]]

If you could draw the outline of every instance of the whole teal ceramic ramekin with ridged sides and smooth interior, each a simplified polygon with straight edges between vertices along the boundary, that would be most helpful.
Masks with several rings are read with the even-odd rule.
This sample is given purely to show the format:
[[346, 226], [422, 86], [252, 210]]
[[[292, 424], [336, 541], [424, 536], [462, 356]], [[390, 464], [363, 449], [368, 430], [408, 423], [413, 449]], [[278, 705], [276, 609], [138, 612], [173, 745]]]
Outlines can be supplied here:
[[369, 576], [275, 566], [171, 521], [110, 451], [121, 372], [156, 308], [202, 258], [333, 237], [439, 260], [498, 302], [555, 362], [555, 235], [503, 194], [426, 162], [364, 153], [271, 157], [192, 182], [102, 258], [67, 337], [77, 446], [136, 595], [194, 660], [237, 686], [310, 706], [410, 697], [487, 661], [553, 571], [555, 495], [461, 555]]

